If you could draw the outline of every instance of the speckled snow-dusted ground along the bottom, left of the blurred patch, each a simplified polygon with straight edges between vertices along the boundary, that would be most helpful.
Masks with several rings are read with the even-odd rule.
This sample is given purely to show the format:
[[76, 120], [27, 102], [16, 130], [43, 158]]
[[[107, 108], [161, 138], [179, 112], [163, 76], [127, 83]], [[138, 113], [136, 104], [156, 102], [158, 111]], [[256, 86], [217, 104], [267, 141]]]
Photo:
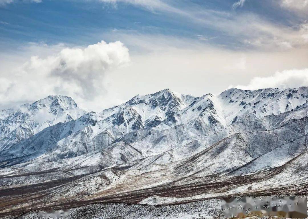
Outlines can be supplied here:
[[[213, 219], [221, 216], [221, 200], [212, 199], [180, 205], [93, 204], [70, 209], [67, 219]], [[13, 217], [6, 217], [6, 219]], [[30, 212], [18, 219], [43, 219], [40, 212]], [[3, 218], [4, 219], [4, 218]]]

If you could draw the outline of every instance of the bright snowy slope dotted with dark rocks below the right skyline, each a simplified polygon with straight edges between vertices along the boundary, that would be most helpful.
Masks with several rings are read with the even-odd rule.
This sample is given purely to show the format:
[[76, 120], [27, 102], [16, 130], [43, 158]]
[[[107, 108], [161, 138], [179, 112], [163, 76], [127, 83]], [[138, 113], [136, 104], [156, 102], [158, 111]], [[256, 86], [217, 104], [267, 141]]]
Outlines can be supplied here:
[[257, 117], [278, 115], [307, 106], [308, 87], [299, 88], [266, 88], [255, 91], [231, 88], [219, 95], [226, 122], [236, 116], [247, 116], [251, 113]]

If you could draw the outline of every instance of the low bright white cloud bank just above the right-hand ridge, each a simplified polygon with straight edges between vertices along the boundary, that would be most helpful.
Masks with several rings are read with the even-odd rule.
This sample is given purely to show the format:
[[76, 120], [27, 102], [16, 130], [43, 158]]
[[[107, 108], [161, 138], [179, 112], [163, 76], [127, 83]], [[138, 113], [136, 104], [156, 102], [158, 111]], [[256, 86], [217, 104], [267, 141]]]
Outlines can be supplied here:
[[[267, 87], [302, 87], [308, 86], [308, 68], [276, 72], [268, 77], [254, 77], [247, 85], [237, 85], [242, 90], [257, 90]], [[233, 87], [233, 86], [230, 86]]]

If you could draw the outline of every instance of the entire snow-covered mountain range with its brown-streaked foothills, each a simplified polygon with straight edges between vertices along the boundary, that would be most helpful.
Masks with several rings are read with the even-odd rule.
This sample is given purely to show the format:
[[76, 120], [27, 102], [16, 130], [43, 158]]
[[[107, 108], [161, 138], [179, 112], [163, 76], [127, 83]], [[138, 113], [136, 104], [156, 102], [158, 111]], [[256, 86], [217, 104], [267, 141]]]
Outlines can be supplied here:
[[270, 194], [286, 180], [305, 193], [296, 172], [308, 179], [307, 115], [308, 87], [201, 97], [165, 89], [88, 113], [49, 96], [0, 113], [0, 192], [8, 194], [0, 202], [19, 197], [12, 188], [22, 195], [36, 184], [46, 193], [27, 193], [36, 201], [20, 209], [52, 206], [57, 196], [81, 205]]

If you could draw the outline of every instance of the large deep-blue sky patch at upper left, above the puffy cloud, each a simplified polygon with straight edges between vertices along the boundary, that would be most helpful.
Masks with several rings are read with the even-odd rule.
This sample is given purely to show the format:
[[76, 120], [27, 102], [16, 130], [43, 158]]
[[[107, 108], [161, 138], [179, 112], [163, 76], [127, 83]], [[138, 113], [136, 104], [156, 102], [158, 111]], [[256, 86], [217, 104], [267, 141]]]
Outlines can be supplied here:
[[[151, 11], [143, 7], [119, 2], [116, 5], [99, 1], [42, 1], [16, 2], [1, 9], [2, 43], [96, 43], [99, 34], [118, 30], [140, 33], [160, 33], [193, 37], [206, 30], [198, 30], [185, 19]], [[89, 35], [95, 36], [96, 39]]]

